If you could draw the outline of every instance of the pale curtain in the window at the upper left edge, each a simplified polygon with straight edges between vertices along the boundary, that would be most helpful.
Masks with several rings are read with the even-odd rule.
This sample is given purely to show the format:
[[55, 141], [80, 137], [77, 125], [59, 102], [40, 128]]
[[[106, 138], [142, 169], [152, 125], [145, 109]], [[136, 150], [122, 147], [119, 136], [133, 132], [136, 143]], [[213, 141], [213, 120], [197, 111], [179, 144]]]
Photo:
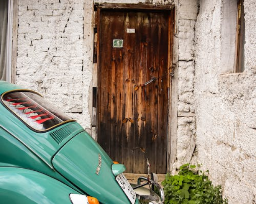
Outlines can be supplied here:
[[6, 80], [8, 0], [0, 0], [0, 79]]

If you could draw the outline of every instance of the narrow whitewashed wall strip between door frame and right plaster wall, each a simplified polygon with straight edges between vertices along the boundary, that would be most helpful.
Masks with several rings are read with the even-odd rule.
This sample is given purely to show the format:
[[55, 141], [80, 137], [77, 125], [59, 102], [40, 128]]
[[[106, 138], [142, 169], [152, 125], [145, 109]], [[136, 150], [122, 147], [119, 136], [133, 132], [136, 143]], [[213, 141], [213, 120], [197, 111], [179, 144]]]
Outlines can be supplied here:
[[[177, 5], [177, 152], [172, 165], [173, 173], [182, 164], [190, 161], [187, 150], [195, 137], [195, 22], [198, 15], [198, 0], [179, 0]], [[175, 80], [173, 80], [173, 86]], [[184, 160], [188, 158], [187, 160]]]

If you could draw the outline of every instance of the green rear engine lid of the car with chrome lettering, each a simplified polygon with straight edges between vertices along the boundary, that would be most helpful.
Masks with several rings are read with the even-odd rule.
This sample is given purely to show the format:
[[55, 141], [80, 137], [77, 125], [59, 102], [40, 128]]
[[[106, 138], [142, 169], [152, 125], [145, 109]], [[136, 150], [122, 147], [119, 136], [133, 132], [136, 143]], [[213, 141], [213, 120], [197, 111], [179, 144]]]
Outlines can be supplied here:
[[52, 164], [58, 173], [102, 204], [130, 203], [112, 173], [113, 161], [85, 131], [67, 142]]

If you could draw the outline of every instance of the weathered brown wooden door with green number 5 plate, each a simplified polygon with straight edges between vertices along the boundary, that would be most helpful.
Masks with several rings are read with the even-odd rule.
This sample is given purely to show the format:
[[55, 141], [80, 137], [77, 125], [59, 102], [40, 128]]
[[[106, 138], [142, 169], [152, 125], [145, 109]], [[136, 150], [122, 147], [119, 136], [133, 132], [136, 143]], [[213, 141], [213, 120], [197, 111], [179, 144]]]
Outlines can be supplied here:
[[170, 11], [106, 11], [99, 21], [98, 142], [126, 173], [166, 173]]

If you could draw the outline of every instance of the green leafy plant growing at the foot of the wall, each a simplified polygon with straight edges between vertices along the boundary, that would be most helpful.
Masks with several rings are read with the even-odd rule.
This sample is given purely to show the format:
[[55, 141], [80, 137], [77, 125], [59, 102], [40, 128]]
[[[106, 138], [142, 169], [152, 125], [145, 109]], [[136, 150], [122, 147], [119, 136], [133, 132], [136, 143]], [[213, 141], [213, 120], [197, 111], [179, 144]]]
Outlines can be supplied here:
[[195, 165], [184, 164], [178, 175], [166, 175], [162, 182], [165, 204], [228, 204], [227, 199], [222, 198], [221, 185], [213, 187], [208, 176], [195, 168]]

